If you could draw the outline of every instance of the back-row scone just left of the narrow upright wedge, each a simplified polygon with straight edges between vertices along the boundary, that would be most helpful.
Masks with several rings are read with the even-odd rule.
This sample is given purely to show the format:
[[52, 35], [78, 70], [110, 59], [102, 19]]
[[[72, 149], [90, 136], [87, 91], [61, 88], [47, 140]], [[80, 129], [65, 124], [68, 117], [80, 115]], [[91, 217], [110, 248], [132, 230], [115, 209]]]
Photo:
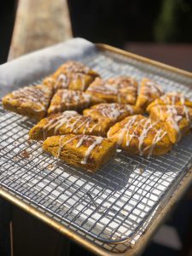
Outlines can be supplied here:
[[108, 79], [107, 81], [96, 78], [86, 92], [100, 97], [106, 102], [134, 105], [137, 98], [137, 81], [125, 76]]

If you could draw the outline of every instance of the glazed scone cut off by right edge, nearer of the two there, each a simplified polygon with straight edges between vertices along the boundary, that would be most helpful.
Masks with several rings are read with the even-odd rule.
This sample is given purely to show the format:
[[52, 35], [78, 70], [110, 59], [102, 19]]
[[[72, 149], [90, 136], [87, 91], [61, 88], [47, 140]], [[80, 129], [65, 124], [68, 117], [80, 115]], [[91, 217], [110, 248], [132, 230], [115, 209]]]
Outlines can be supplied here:
[[177, 143], [192, 125], [192, 108], [183, 105], [157, 105], [150, 108], [150, 118], [162, 121], [172, 143]]

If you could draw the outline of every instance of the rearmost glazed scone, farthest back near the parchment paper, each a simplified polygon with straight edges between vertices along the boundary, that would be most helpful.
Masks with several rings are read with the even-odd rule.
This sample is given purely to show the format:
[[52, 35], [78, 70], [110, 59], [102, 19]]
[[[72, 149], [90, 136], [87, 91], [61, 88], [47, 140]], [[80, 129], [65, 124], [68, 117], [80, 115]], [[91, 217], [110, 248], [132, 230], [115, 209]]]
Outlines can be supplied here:
[[55, 90], [86, 90], [96, 77], [99, 77], [99, 74], [90, 67], [76, 61], [67, 61], [55, 73], [44, 79], [44, 83], [49, 83], [51, 79]]

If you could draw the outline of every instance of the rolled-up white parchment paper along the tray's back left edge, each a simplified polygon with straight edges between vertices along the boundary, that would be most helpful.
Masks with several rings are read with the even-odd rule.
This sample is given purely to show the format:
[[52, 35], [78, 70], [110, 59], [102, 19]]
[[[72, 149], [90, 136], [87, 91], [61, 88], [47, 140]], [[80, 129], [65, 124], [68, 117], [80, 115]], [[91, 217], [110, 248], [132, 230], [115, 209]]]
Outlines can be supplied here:
[[0, 65], [0, 96], [53, 73], [64, 61], [78, 61], [95, 45], [83, 38], [55, 44]]

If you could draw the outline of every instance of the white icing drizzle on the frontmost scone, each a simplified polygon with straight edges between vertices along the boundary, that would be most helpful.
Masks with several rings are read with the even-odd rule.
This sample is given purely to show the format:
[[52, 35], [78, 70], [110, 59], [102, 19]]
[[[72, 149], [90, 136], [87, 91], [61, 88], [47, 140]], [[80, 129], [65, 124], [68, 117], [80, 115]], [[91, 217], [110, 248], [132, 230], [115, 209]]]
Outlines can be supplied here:
[[89, 159], [90, 157], [90, 154], [92, 152], [92, 150], [94, 148], [96, 148], [97, 145], [100, 145], [103, 141], [103, 137], [90, 137], [90, 136], [87, 136], [87, 135], [80, 135], [80, 136], [74, 136], [74, 137], [71, 137], [69, 140], [67, 140], [65, 143], [62, 143], [62, 140], [63, 140], [63, 137], [64, 136], [61, 136], [60, 137], [60, 140], [59, 140], [59, 148], [58, 148], [58, 154], [57, 154], [57, 158], [60, 157], [61, 155], [61, 150], [62, 148], [67, 145], [67, 143], [70, 143], [72, 142], [73, 140], [75, 139], [79, 139], [79, 142], [76, 144], [76, 148], [80, 148], [82, 146], [82, 144], [86, 141], [90, 141], [90, 146], [87, 148], [87, 150], [85, 151], [85, 154], [84, 154], [84, 158], [83, 160], [81, 160], [81, 164], [82, 165], [86, 165], [87, 163], [87, 160]]

